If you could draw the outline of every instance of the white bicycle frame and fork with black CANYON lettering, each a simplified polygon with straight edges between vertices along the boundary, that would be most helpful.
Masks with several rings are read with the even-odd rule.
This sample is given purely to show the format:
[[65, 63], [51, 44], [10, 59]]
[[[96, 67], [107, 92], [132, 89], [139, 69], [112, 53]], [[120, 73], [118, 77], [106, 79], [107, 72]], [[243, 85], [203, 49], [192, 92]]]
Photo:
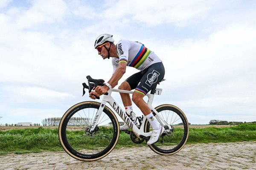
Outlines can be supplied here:
[[[103, 95], [103, 99], [101, 102], [101, 106], [99, 107], [99, 110], [97, 111], [96, 115], [94, 116], [93, 119], [93, 123], [90, 129], [90, 132], [92, 132], [94, 130], [94, 128], [96, 127], [96, 125], [98, 124], [99, 118], [102, 114], [102, 111], [106, 105], [106, 103], [108, 102], [111, 107], [116, 111], [116, 113], [123, 119], [123, 121], [131, 128], [131, 130], [134, 132], [134, 134], [140, 138], [140, 135], [142, 136], [151, 136], [152, 132], [144, 132], [144, 126], [145, 126], [145, 121], [146, 121], [146, 117], [143, 115], [143, 121], [142, 124], [140, 126], [140, 129], [134, 124], [134, 122], [131, 120], [131, 118], [125, 113], [125, 111], [122, 110], [122, 107], [120, 107], [117, 102], [113, 99], [113, 97], [111, 96], [112, 92], [119, 92], [119, 93], [127, 93], [127, 94], [133, 94], [134, 91], [125, 91], [125, 90], [119, 90], [119, 89], [114, 89], [111, 88], [108, 91], [108, 95]], [[155, 117], [157, 119], [157, 121], [160, 123], [160, 125], [164, 126], [167, 125], [169, 130], [165, 130], [163, 133], [169, 132], [172, 127], [171, 125], [169, 125], [163, 118], [163, 116], [161, 116], [152, 106], [152, 102], [154, 99], [154, 94], [146, 94], [146, 96], [148, 97], [148, 106], [149, 108], [154, 111], [154, 113], [156, 113]]]

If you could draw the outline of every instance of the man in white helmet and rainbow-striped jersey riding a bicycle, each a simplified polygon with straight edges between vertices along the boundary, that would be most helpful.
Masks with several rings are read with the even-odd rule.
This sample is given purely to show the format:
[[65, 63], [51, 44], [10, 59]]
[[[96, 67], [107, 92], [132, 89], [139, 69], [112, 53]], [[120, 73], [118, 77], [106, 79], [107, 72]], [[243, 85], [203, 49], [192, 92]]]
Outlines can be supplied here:
[[[120, 40], [116, 45], [113, 42], [114, 39], [111, 34], [101, 34], [95, 40], [94, 48], [97, 49], [98, 54], [103, 59], [112, 57], [113, 75], [104, 86], [97, 86], [94, 92], [90, 92], [89, 97], [96, 99], [95, 96], [105, 94], [110, 88], [115, 87], [119, 79], [125, 74], [126, 66], [140, 70], [122, 82], [118, 89], [127, 91], [135, 89], [132, 101], [140, 108], [152, 126], [153, 132], [147, 144], [153, 144], [163, 133], [164, 127], [158, 124], [143, 97], [163, 79], [165, 74], [163, 63], [153, 51], [150, 51], [140, 42]], [[130, 113], [128, 114], [134, 114], [130, 95], [124, 93], [120, 93], [120, 95], [126, 112], [128, 113], [129, 110]], [[136, 125], [136, 119], [133, 121]], [[126, 124], [120, 127], [121, 130], [128, 128]]]

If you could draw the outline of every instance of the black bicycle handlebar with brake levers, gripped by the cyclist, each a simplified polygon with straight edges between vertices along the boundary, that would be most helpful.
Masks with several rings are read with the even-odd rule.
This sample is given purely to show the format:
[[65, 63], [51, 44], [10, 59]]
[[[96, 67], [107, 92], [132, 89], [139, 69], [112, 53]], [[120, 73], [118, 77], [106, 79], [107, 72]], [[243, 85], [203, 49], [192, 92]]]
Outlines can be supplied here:
[[[82, 83], [82, 85], [84, 87], [83, 88], [83, 95], [82, 96], [84, 96], [84, 94], [85, 94], [85, 91], [84, 91], [85, 88], [87, 88], [89, 90], [89, 93], [90, 93], [93, 90], [94, 87], [97, 87], [98, 85], [100, 85], [100, 86], [104, 86], [105, 85], [104, 84], [105, 81], [103, 79], [93, 79], [90, 76], [86, 76], [86, 78], [88, 80], [88, 85], [89, 86], [85, 82]], [[108, 92], [105, 93], [104, 95], [108, 95]], [[95, 95], [93, 95], [93, 96], [95, 96]], [[95, 96], [95, 97], [96, 97], [96, 99], [100, 99], [97, 96]]]

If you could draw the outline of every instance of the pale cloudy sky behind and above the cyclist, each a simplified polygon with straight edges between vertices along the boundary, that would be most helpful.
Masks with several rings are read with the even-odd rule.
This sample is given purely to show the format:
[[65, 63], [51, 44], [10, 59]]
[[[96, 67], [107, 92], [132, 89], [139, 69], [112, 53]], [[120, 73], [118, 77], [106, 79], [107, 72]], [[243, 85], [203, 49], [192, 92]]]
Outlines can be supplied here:
[[41, 123], [90, 100], [86, 76], [108, 81], [113, 71], [93, 47], [102, 33], [163, 61], [154, 106], [176, 105], [192, 124], [256, 121], [255, 9], [253, 0], [0, 0], [0, 124]]

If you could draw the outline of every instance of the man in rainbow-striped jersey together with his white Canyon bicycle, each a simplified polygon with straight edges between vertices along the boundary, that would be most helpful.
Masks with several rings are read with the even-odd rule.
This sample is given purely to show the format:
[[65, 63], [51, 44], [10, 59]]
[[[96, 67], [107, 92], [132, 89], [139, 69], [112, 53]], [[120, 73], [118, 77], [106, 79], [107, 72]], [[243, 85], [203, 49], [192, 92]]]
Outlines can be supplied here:
[[[88, 85], [83, 83], [84, 89], [89, 90], [92, 99], [99, 99], [104, 94], [102, 102], [81, 102], [64, 113], [59, 125], [62, 147], [75, 159], [98, 160], [113, 150], [120, 129], [130, 134], [130, 139], [136, 144], [146, 140], [151, 150], [158, 154], [177, 153], [189, 135], [185, 114], [173, 105], [160, 105], [156, 108], [151, 105], [154, 95], [160, 95], [162, 91], [156, 88], [164, 80], [162, 61], [140, 42], [120, 40], [116, 45], [113, 42], [111, 34], [102, 34], [95, 40], [94, 47], [98, 54], [103, 59], [112, 57], [113, 75], [105, 84], [103, 79], [87, 76]], [[127, 66], [140, 71], [128, 77], [118, 89], [114, 89]], [[125, 111], [113, 99], [112, 92], [120, 93]], [[143, 100], [144, 96], [148, 97], [148, 103]], [[131, 100], [142, 111], [142, 117], [136, 117]], [[123, 126], [119, 127], [115, 113], [106, 106], [107, 102], [124, 120]]]

